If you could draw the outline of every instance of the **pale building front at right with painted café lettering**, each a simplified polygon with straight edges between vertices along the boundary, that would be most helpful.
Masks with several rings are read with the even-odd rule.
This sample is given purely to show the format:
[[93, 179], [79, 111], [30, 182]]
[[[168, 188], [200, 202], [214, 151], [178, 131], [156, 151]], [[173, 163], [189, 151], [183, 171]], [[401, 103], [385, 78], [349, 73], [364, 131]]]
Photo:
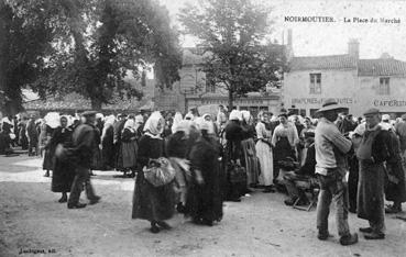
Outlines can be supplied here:
[[344, 55], [292, 57], [284, 76], [285, 107], [311, 116], [325, 99], [334, 98], [355, 116], [369, 108], [393, 118], [406, 113], [406, 63], [387, 54], [360, 59], [354, 40], [348, 48]]

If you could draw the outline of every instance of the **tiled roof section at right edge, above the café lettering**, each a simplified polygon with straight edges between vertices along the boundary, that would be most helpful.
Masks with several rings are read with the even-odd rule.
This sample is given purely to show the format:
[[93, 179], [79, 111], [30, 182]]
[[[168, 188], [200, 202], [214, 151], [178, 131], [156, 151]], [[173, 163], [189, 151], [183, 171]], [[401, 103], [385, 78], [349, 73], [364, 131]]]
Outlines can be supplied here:
[[360, 59], [359, 76], [406, 76], [406, 62], [387, 59]]

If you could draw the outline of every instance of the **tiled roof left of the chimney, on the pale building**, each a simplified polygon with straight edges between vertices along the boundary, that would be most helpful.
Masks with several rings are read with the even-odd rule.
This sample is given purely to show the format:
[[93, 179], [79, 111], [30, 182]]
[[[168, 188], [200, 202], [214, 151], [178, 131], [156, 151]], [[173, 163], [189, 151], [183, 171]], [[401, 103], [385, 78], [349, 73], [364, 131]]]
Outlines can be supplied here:
[[356, 59], [349, 55], [293, 57], [289, 67], [292, 71], [309, 69], [355, 69]]

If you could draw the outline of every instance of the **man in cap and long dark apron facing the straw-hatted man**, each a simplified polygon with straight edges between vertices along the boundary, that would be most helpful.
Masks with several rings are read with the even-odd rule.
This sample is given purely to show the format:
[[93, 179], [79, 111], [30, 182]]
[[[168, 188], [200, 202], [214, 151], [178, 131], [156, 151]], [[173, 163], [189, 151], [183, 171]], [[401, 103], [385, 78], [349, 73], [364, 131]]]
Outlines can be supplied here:
[[360, 161], [358, 190], [358, 216], [367, 220], [369, 227], [361, 227], [365, 239], [385, 238], [384, 206], [384, 163], [389, 161], [393, 154], [389, 132], [380, 125], [380, 110], [369, 109], [364, 112], [365, 132], [356, 150]]

